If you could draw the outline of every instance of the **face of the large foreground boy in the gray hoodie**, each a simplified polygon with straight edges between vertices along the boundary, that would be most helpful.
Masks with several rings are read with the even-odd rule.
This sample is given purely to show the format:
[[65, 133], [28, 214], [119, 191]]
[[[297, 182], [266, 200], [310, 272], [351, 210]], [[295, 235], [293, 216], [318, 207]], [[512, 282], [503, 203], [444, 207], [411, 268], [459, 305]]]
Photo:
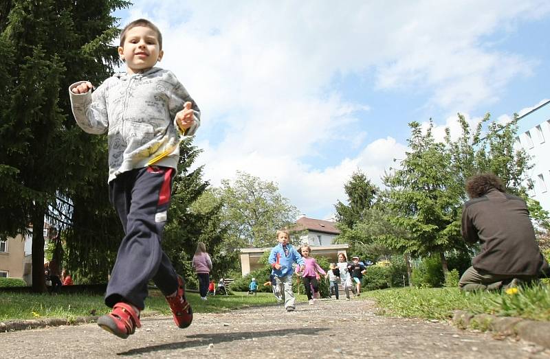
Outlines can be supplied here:
[[128, 73], [142, 73], [155, 66], [164, 51], [160, 49], [155, 30], [136, 26], [126, 32], [124, 46], [118, 47], [118, 54], [126, 62]]

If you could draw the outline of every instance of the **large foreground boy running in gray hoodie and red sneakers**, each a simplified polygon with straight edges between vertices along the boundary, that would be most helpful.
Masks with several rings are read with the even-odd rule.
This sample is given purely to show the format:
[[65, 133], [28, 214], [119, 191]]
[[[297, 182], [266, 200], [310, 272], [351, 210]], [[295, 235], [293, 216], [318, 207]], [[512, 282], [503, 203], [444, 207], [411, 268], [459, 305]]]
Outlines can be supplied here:
[[166, 296], [180, 328], [192, 321], [184, 279], [175, 273], [161, 240], [179, 159], [179, 137], [199, 127], [199, 108], [174, 74], [154, 67], [162, 59], [162, 35], [145, 19], [121, 32], [120, 58], [126, 72], [105, 80], [93, 93], [90, 82], [69, 87], [74, 117], [92, 134], [107, 132], [109, 199], [124, 238], [118, 248], [105, 304], [113, 308], [98, 325], [128, 338], [141, 327], [147, 282]]

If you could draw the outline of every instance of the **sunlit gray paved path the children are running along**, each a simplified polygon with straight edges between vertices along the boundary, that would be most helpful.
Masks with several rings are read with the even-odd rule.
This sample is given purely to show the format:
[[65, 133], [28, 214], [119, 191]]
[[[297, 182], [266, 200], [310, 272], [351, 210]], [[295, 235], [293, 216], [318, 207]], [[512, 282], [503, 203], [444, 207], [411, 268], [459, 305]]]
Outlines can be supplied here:
[[531, 343], [468, 332], [449, 323], [375, 314], [372, 301], [300, 303], [144, 318], [123, 340], [96, 324], [0, 333], [0, 358], [550, 358]]

